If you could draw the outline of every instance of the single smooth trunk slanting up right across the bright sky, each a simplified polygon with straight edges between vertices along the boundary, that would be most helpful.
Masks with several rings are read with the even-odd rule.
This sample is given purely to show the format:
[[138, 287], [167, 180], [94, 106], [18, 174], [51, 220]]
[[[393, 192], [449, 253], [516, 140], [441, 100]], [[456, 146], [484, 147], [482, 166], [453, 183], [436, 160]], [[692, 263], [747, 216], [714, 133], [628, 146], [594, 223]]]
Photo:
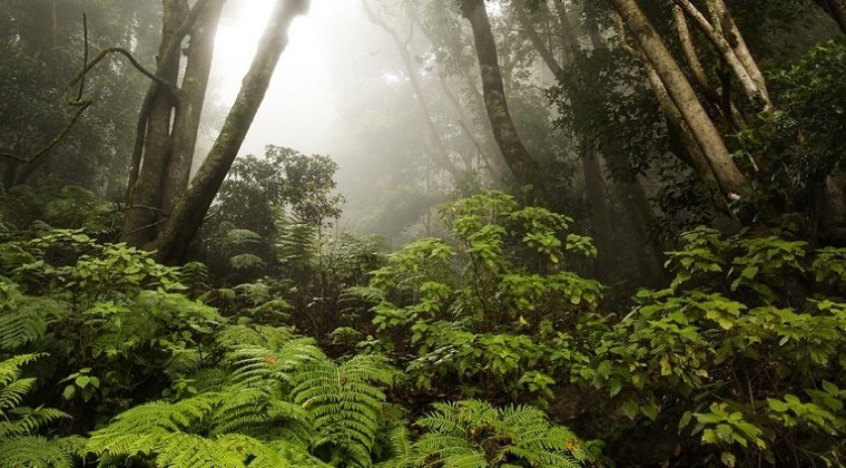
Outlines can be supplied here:
[[185, 259], [188, 244], [203, 224], [264, 100], [276, 64], [287, 46], [288, 28], [294, 18], [308, 11], [308, 7], [309, 0], [277, 1], [220, 134], [158, 238], [151, 244], [158, 251], [156, 256], [160, 262], [177, 263]]

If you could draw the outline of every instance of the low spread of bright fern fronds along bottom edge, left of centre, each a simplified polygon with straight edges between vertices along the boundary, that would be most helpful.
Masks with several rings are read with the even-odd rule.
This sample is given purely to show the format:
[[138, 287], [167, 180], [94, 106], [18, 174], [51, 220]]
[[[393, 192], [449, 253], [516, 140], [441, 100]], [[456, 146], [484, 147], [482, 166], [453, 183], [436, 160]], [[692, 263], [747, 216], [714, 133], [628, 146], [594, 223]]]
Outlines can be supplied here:
[[[309, 458], [305, 438], [298, 436], [306, 419], [302, 407], [278, 401], [265, 390], [230, 387], [176, 403], [129, 409], [95, 431], [86, 448], [101, 465], [146, 460], [169, 467], [301, 466], [292, 460]], [[283, 430], [286, 423], [294, 429]]]

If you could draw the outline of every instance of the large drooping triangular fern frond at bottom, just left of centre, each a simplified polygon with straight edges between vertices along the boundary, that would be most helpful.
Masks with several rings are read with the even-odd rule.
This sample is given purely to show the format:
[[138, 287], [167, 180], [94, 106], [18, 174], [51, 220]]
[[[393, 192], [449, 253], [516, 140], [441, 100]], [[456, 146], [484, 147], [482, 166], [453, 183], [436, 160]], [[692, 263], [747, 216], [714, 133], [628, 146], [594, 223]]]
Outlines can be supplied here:
[[380, 355], [356, 355], [342, 363], [323, 359], [296, 374], [294, 402], [313, 415], [312, 445], [328, 449], [353, 466], [370, 466], [385, 402], [380, 384], [393, 383], [396, 371]]

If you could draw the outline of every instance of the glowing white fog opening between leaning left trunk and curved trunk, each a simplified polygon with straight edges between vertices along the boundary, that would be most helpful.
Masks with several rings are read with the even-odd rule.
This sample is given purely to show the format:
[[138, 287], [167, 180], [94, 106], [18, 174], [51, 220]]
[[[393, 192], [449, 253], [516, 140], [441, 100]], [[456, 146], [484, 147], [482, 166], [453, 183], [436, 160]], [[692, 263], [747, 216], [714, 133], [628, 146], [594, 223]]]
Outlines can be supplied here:
[[[451, 140], [452, 157], [473, 166], [479, 145], [466, 135], [483, 127], [472, 128], [473, 118], [465, 115], [462, 129], [462, 110], [439, 90], [444, 85], [437, 82], [432, 45], [420, 26], [411, 27], [399, 4], [378, 3], [371, 1], [378, 18], [402, 35], [415, 72], [429, 87], [424, 99], [439, 120], [437, 138]], [[270, 7], [255, 0], [227, 3], [212, 71], [216, 117], [209, 118], [209, 137], [238, 91]], [[426, 208], [445, 199], [453, 181], [430, 162], [433, 137], [426, 134], [426, 116], [411, 85], [397, 45], [368, 20], [361, 0], [312, 2], [308, 13], [292, 25], [288, 46], [239, 155], [260, 155], [266, 145], [329, 155], [341, 166], [336, 179], [347, 198], [345, 228], [387, 236], [414, 231]], [[453, 86], [451, 92], [461, 94]]]

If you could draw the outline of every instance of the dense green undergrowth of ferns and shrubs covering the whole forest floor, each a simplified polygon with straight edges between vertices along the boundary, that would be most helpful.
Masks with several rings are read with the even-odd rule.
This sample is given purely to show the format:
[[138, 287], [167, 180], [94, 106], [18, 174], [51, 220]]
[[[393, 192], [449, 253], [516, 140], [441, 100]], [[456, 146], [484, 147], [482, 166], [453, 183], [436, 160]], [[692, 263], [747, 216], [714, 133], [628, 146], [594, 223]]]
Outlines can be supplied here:
[[[846, 250], [700, 227], [667, 289], [609, 310], [568, 217], [499, 192], [440, 213], [447, 238], [230, 289], [4, 224], [4, 466], [842, 462]], [[293, 308], [317, 275], [357, 284]]]

